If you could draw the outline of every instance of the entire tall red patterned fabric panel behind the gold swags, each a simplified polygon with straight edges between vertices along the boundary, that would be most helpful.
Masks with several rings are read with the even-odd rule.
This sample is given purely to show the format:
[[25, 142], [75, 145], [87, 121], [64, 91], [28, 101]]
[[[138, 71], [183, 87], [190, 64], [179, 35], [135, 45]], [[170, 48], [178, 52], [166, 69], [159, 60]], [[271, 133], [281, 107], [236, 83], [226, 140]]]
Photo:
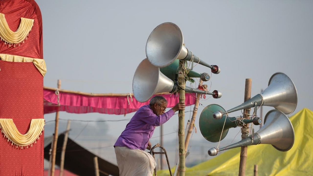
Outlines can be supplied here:
[[[41, 12], [34, 0], [0, 0], [0, 13], [16, 31], [21, 18], [34, 19], [28, 39], [9, 47], [0, 41], [0, 53], [43, 59]], [[0, 60], [0, 118], [12, 118], [21, 134], [29, 130], [31, 119], [44, 118], [43, 76], [33, 63]], [[44, 137], [30, 148], [16, 148], [0, 137], [0, 176], [44, 175]]]

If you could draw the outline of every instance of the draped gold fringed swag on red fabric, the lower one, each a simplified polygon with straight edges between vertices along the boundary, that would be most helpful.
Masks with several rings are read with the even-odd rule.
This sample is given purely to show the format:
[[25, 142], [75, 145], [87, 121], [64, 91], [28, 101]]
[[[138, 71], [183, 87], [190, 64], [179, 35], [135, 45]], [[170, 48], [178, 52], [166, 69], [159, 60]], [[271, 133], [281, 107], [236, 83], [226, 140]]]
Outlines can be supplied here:
[[28, 148], [28, 146], [33, 146], [33, 143], [36, 143], [36, 140], [42, 135], [44, 119], [32, 119], [26, 134], [21, 134], [18, 131], [13, 119], [0, 119], [0, 129], [4, 133], [4, 137], [8, 138], [8, 141], [11, 142], [11, 145], [15, 145], [16, 148]]

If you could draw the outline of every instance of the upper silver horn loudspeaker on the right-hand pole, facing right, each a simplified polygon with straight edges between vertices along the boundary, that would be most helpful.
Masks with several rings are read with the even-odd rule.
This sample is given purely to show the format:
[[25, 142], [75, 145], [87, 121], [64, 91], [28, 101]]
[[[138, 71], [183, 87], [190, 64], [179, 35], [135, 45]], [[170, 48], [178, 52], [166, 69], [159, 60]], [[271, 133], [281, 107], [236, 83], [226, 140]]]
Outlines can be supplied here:
[[[256, 102], [256, 106], [272, 106], [288, 115], [293, 113], [297, 107], [297, 89], [285, 73], [274, 73], [269, 79], [268, 87], [263, 92], [228, 110], [227, 113], [254, 107], [254, 102]], [[223, 114], [226, 114], [226, 111], [216, 111], [213, 117], [221, 119]]]

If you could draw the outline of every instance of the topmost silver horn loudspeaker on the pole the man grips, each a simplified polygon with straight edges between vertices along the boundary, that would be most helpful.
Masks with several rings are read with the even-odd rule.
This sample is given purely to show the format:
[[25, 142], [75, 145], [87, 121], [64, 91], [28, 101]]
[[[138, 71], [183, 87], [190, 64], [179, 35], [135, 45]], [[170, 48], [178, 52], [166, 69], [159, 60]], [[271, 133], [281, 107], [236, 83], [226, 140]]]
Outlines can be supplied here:
[[217, 65], [203, 62], [184, 46], [182, 31], [174, 23], [162, 23], [153, 29], [146, 43], [146, 56], [156, 67], [166, 67], [179, 59], [209, 67], [215, 74], [221, 71]]

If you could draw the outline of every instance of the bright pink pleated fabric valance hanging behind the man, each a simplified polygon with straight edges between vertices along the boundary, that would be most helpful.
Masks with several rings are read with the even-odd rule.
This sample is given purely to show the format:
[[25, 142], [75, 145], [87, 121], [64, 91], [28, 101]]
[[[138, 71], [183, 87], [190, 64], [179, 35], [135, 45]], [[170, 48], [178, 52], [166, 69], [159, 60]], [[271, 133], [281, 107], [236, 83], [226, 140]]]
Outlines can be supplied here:
[[[164, 94], [167, 99], [167, 107], [174, 107], [179, 101], [179, 94]], [[186, 106], [195, 104], [196, 94], [186, 93]], [[149, 101], [139, 102], [130, 96], [85, 96], [80, 94], [59, 92], [44, 89], [44, 114], [58, 111], [69, 113], [98, 112], [103, 114], [127, 114], [137, 111], [141, 106], [149, 104]]]

